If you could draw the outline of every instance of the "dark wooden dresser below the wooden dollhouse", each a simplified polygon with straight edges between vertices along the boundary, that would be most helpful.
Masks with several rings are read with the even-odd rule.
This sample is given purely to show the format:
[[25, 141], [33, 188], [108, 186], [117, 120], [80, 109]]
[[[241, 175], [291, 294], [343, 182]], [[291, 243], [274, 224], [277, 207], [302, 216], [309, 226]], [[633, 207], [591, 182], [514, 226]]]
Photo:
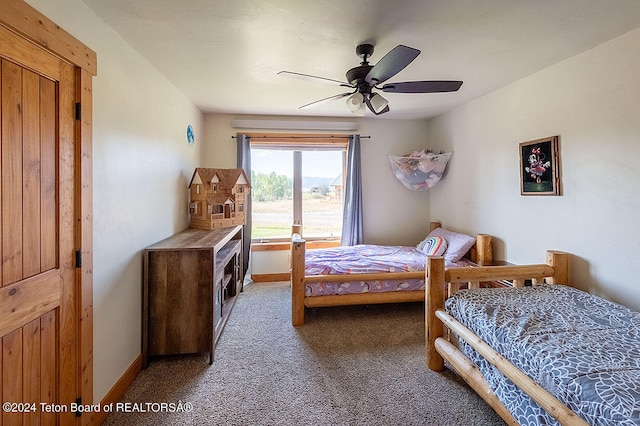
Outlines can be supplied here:
[[208, 352], [242, 291], [242, 226], [187, 229], [143, 253], [142, 367], [158, 355]]

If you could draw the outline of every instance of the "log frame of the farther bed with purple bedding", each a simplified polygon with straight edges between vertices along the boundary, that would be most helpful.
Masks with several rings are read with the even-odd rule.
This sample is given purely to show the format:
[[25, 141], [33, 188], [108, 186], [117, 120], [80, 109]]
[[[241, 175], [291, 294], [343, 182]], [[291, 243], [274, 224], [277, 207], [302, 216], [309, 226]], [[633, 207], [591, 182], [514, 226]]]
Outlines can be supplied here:
[[[430, 222], [429, 232], [440, 227], [439, 222]], [[328, 307], [346, 305], [367, 305], [379, 303], [420, 302], [425, 299], [424, 290], [370, 292], [358, 294], [340, 294], [326, 296], [305, 296], [305, 284], [318, 281], [364, 281], [424, 278], [425, 271], [381, 272], [372, 274], [305, 275], [306, 241], [301, 237], [301, 225], [293, 225], [291, 237], [291, 323], [304, 325], [305, 307]], [[478, 234], [476, 244], [469, 250], [467, 257], [473, 262], [487, 264], [493, 260], [493, 245], [490, 235]]]

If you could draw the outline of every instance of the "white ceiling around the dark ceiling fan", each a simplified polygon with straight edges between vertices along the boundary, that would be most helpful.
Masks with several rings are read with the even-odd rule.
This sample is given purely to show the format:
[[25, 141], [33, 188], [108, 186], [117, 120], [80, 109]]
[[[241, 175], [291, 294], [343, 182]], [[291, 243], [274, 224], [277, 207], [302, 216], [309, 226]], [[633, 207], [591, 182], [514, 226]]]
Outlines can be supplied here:
[[[638, 0], [84, 0], [204, 112], [350, 116], [356, 45], [375, 64], [399, 44], [422, 53], [388, 83], [463, 80], [458, 92], [384, 93], [382, 118], [428, 118], [640, 26]], [[615, 76], [612, 76], [615, 77]], [[367, 112], [369, 115], [370, 113]]]

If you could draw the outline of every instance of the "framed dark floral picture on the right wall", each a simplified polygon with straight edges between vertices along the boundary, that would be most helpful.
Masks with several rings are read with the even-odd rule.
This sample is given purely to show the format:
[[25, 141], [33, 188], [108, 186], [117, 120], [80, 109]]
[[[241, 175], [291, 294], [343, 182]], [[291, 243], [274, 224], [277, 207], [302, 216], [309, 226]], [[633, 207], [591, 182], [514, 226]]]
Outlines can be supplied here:
[[561, 195], [559, 136], [520, 144], [520, 195]]

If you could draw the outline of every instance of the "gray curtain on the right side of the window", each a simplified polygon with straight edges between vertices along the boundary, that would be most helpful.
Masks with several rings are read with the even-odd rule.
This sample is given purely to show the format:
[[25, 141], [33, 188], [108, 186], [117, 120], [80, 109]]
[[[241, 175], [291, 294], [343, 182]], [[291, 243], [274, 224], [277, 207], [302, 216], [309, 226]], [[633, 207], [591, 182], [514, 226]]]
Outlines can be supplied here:
[[342, 215], [343, 246], [362, 244], [362, 173], [360, 167], [360, 135], [349, 136], [347, 146], [347, 181]]

